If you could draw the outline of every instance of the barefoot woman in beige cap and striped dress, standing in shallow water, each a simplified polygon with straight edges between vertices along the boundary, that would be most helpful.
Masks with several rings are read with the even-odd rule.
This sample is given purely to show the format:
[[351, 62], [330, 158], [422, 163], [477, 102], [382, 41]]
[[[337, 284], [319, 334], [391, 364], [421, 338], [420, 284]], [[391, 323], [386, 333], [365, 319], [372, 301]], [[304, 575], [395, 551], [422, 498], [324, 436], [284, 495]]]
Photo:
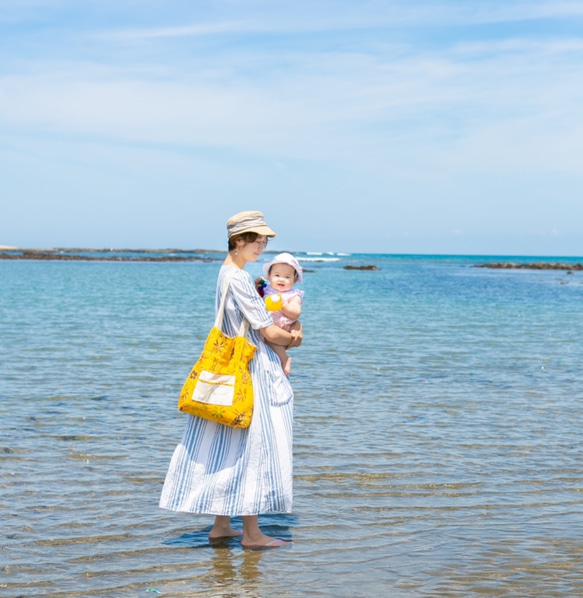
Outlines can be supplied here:
[[[261, 212], [241, 212], [227, 221], [229, 253], [217, 282], [216, 308], [226, 277], [223, 332], [235, 336], [243, 318], [257, 347], [249, 366], [253, 379], [251, 425], [231, 428], [188, 416], [182, 442], [176, 447], [162, 490], [160, 506], [174, 511], [215, 515], [211, 541], [242, 536], [245, 548], [285, 546], [263, 534], [260, 513], [289, 513], [292, 505], [293, 391], [279, 358], [265, 341], [297, 347], [302, 332], [287, 332], [275, 324], [244, 271], [255, 262], [275, 233]], [[243, 531], [231, 527], [232, 516], [242, 516]]]

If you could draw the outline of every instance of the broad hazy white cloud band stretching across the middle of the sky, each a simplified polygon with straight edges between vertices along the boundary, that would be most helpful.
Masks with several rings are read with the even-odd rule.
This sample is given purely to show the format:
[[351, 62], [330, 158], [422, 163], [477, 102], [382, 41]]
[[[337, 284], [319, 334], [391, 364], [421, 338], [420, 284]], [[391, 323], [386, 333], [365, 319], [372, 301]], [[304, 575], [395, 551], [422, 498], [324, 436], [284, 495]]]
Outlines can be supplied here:
[[580, 173], [582, 54], [582, 39], [514, 37], [431, 51], [254, 47], [206, 55], [188, 72], [173, 63], [39, 60], [28, 74], [0, 79], [0, 117], [12, 132], [363, 167], [422, 160]]

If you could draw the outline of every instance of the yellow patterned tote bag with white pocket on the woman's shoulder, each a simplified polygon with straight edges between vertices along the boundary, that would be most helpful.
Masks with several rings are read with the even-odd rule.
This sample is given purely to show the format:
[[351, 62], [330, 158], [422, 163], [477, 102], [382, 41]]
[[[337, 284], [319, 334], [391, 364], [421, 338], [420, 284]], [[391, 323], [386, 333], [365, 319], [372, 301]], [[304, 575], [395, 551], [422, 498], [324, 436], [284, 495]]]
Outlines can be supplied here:
[[221, 331], [229, 283], [230, 278], [223, 288], [215, 325], [180, 392], [178, 409], [225, 426], [247, 428], [253, 415], [249, 362], [257, 347], [246, 338], [249, 323], [245, 319], [237, 336]]

